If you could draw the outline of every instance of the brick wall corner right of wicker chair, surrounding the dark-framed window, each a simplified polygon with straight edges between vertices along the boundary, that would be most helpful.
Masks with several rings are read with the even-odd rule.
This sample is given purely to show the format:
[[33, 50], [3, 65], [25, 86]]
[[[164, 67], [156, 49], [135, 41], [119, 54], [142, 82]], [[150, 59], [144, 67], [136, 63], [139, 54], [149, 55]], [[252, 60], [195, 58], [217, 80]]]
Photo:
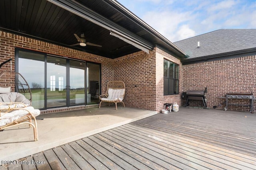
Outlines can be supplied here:
[[114, 79], [126, 84], [126, 106], [160, 112], [165, 103], [181, 105], [180, 94], [164, 96], [164, 59], [179, 64], [179, 91], [182, 91], [182, 64], [179, 59], [155, 48], [114, 59]]

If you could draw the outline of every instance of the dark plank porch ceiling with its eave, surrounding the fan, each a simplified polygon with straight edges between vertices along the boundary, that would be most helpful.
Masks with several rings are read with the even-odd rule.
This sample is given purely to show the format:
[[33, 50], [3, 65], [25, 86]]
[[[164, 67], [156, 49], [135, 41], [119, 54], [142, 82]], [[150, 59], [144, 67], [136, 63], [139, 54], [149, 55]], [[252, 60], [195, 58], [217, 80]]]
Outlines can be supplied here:
[[[114, 0], [1, 0], [0, 29], [112, 59], [155, 46], [186, 57]], [[110, 30], [128, 41], [110, 35]], [[74, 33], [81, 32], [87, 42], [102, 47], [70, 46], [78, 43]]]

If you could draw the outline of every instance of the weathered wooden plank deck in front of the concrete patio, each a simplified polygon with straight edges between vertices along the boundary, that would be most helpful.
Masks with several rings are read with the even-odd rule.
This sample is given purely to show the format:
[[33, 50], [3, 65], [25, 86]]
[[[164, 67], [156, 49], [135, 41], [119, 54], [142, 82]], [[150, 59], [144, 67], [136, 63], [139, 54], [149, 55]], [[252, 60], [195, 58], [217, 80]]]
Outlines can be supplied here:
[[[26, 164], [32, 160], [44, 163]], [[0, 170], [255, 170], [256, 114], [180, 108], [17, 162], [25, 164], [0, 166]]]

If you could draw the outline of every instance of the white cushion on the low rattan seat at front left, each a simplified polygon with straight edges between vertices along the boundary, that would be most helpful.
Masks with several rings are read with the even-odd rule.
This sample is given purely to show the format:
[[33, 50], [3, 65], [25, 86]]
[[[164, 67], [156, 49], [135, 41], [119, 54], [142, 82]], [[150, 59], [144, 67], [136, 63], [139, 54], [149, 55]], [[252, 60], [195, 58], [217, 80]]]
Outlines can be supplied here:
[[[28, 107], [26, 107], [26, 109], [30, 113], [32, 113], [35, 117], [40, 115], [40, 110], [34, 109], [34, 107], [32, 107], [32, 106], [28, 106]], [[10, 113], [1, 113], [0, 127], [15, 121], [24, 115], [27, 115], [28, 111], [26, 111], [24, 109], [18, 109], [18, 110], [14, 110]]]

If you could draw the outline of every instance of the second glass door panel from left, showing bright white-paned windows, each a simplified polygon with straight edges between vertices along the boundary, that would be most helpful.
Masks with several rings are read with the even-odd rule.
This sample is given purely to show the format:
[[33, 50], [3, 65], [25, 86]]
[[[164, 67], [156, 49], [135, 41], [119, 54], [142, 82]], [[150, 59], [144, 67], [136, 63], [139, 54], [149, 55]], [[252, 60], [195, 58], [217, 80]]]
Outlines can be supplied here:
[[47, 56], [47, 107], [66, 106], [66, 59]]

